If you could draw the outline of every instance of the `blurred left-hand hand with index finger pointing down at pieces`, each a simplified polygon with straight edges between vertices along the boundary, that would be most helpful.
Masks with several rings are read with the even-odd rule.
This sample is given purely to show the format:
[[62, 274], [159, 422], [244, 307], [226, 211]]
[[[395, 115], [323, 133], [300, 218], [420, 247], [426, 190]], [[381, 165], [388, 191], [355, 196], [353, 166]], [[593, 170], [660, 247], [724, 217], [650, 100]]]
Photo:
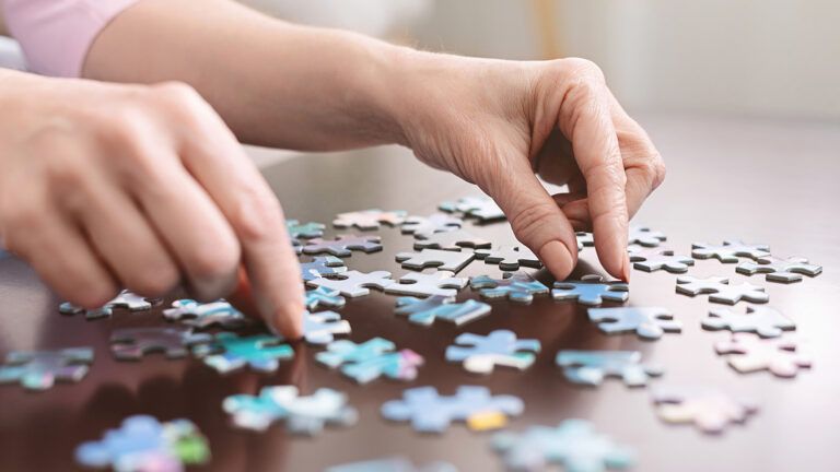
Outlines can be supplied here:
[[266, 321], [301, 334], [280, 204], [189, 86], [0, 80], [0, 239], [62, 297], [93, 308], [183, 283], [212, 299], [242, 263]]

